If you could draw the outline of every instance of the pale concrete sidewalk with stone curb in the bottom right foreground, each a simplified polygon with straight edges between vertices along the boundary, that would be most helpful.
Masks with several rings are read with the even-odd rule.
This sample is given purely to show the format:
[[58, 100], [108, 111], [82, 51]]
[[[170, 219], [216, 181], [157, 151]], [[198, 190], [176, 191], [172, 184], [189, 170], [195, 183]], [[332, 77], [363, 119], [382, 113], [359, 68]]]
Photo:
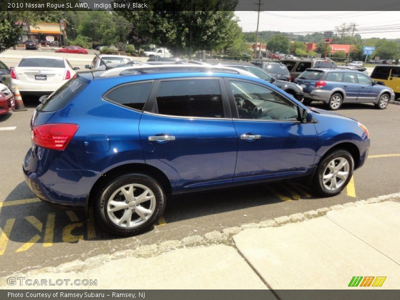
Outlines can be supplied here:
[[[269, 288], [278, 296], [280, 289], [397, 289], [399, 201], [400, 193], [379, 196], [7, 277], [97, 279], [95, 286], [68, 284], [82, 289]], [[380, 287], [348, 287], [353, 276], [386, 279]], [[43, 286], [1, 278], [0, 289], [10, 288]]]

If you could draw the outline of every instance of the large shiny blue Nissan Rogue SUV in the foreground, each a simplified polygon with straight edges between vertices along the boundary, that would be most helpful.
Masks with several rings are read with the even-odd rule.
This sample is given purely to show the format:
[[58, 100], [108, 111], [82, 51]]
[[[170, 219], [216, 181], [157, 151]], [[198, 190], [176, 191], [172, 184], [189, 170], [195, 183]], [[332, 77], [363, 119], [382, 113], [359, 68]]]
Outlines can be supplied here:
[[353, 119], [237, 70], [194, 65], [78, 73], [30, 128], [30, 189], [68, 209], [92, 205], [119, 235], [148, 229], [177, 194], [305, 177], [336, 195], [369, 148]]

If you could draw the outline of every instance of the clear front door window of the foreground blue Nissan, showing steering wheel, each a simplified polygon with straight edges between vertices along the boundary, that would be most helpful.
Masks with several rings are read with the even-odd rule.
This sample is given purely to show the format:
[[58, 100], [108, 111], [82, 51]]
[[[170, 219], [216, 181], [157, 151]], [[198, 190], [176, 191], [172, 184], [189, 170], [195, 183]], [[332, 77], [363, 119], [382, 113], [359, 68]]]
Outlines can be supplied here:
[[275, 91], [243, 81], [229, 84], [240, 119], [297, 120], [297, 107]]

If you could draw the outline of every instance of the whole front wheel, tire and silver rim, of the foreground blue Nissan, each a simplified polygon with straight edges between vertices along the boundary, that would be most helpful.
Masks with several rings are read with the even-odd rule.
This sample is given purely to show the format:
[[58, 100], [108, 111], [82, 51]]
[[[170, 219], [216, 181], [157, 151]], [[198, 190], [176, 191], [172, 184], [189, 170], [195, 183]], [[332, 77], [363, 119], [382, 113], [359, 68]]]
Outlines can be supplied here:
[[318, 164], [313, 178], [313, 188], [322, 196], [334, 196], [347, 185], [353, 174], [354, 160], [344, 149], [324, 157]]

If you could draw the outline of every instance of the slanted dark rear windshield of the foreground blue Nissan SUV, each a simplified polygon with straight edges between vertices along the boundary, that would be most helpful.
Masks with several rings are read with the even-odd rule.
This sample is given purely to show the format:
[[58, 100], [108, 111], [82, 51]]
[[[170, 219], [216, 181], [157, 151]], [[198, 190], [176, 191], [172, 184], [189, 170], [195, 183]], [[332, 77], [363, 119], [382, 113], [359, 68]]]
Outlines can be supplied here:
[[64, 83], [54, 91], [40, 107], [42, 111], [58, 110], [66, 105], [74, 96], [86, 87], [87, 83], [74, 78]]

